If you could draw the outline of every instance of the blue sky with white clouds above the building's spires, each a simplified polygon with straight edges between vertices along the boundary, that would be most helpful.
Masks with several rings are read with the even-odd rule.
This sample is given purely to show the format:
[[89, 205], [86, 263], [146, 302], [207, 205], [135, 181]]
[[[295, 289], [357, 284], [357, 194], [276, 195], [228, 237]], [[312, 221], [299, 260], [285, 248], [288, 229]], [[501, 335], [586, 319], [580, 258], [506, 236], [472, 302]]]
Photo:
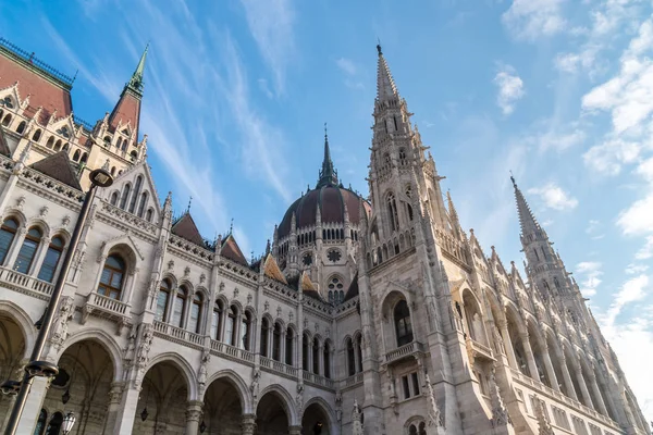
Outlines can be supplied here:
[[508, 171], [653, 419], [653, 7], [644, 0], [13, 1], [2, 36], [110, 111], [145, 45], [161, 198], [260, 253], [315, 185], [329, 123], [367, 194], [377, 38], [465, 227], [521, 262]]

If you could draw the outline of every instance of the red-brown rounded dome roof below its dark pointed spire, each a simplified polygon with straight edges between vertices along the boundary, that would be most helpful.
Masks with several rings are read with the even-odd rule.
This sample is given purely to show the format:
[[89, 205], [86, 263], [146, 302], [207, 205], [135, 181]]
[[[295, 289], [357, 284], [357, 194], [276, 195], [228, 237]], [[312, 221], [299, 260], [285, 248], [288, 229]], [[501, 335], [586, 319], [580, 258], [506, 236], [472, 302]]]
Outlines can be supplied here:
[[[358, 194], [345, 188], [333, 185], [325, 185], [308, 191], [301, 198], [293, 202], [288, 208], [279, 225], [279, 239], [283, 239], [291, 234], [291, 221], [295, 213], [297, 231], [316, 224], [317, 207], [320, 207], [322, 223], [344, 223], [345, 203], [347, 213], [349, 213], [349, 223], [358, 225], [360, 222], [360, 201]], [[364, 199], [364, 208], [368, 215], [370, 204]]]

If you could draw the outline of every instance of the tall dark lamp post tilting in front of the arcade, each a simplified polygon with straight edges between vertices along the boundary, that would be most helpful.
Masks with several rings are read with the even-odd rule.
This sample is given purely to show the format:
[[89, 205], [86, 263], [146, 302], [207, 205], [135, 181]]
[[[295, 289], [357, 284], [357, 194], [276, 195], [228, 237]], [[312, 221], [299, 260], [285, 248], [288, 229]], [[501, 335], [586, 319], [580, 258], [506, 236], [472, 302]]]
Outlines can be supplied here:
[[[75, 224], [75, 229], [73, 231], [73, 236], [71, 237], [69, 248], [65, 252], [63, 264], [61, 266], [61, 272], [59, 273], [59, 277], [57, 278], [57, 283], [54, 284], [54, 288], [52, 290], [52, 297], [50, 298], [50, 302], [48, 303], [48, 307], [46, 308], [46, 313], [42, 318], [42, 326], [40, 327], [36, 337], [36, 343], [34, 344], [34, 349], [32, 350], [29, 363], [27, 363], [27, 365], [25, 366], [25, 374], [23, 375], [23, 382], [21, 383], [21, 390], [16, 396], [16, 401], [14, 402], [14, 406], [11, 410], [11, 415], [7, 423], [7, 428], [4, 430], [5, 435], [14, 435], [16, 433], [19, 421], [21, 420], [21, 415], [23, 414], [23, 409], [25, 408], [25, 402], [27, 401], [27, 396], [29, 395], [29, 389], [32, 388], [32, 382], [34, 381], [34, 377], [52, 377], [56, 376], [57, 373], [59, 373], [59, 369], [56, 364], [49, 361], [40, 360], [41, 352], [44, 351], [46, 339], [48, 338], [50, 328], [52, 326], [54, 311], [57, 310], [57, 306], [59, 304], [59, 299], [61, 298], [61, 293], [67, 278], [71, 262], [73, 261], [73, 256], [77, 250], [77, 244], [79, 243], [82, 228], [84, 227], [86, 217], [88, 217], [88, 211], [90, 209], [90, 204], [93, 203], [93, 199], [95, 198], [96, 187], [109, 187], [113, 184], [113, 177], [103, 167], [91, 171], [89, 176], [90, 188], [84, 197], [84, 203], [82, 204], [82, 210], [79, 211], [77, 223]], [[72, 412], [69, 412], [66, 419], [69, 418], [69, 415], [72, 417], [72, 424], [74, 424], [74, 414]]]

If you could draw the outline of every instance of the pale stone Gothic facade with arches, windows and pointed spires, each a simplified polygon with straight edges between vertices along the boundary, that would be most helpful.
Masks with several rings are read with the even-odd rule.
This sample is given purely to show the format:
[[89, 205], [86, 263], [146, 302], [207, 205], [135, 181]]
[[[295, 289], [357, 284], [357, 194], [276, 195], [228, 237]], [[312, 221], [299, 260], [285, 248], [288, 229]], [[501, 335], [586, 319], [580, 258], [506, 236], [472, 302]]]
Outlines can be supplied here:
[[[17, 55], [4, 48], [0, 71], [48, 77]], [[0, 380], [21, 376], [61, 273], [88, 185], [71, 171], [123, 165], [98, 190], [57, 309], [44, 357], [61, 373], [36, 380], [20, 434], [69, 411], [75, 434], [651, 434], [517, 185], [526, 279], [463, 231], [380, 47], [369, 202], [328, 221], [324, 199], [305, 224], [292, 209], [256, 261], [233, 235], [205, 240], [188, 212], [173, 219], [137, 135], [133, 161], [102, 144], [134, 127], [144, 61], [95, 127], [63, 114], [90, 141], [61, 151], [16, 132], [60, 137], [58, 115], [35, 116], [20, 83], [0, 89]], [[324, 147], [316, 189], [335, 192]]]

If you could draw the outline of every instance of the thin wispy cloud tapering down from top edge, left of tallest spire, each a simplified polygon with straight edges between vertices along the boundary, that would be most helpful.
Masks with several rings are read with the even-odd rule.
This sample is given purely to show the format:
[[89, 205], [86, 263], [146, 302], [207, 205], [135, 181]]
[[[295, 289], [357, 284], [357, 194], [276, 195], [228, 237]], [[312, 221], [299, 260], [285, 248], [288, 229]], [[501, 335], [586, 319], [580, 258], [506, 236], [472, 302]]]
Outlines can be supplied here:
[[291, 0], [241, 0], [249, 32], [274, 76], [276, 94], [283, 94], [288, 62], [295, 55], [295, 10]]

